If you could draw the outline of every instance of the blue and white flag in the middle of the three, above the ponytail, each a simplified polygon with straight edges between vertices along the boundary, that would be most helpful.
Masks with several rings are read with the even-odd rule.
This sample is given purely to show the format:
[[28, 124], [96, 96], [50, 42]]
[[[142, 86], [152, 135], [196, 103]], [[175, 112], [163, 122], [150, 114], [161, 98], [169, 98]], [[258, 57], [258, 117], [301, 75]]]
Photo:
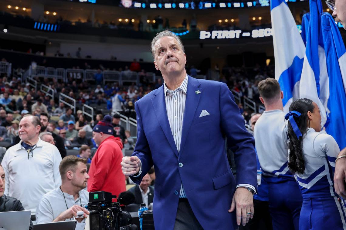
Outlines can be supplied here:
[[[322, 3], [320, 0], [310, 0], [310, 20], [306, 32], [306, 51], [300, 78], [299, 97], [309, 98], [315, 102], [322, 117], [322, 127], [327, 121], [327, 101], [329, 98], [329, 79], [326, 66], [326, 54], [321, 33]], [[307, 25], [306, 16], [304, 24]], [[322, 86], [322, 87], [320, 87]]]

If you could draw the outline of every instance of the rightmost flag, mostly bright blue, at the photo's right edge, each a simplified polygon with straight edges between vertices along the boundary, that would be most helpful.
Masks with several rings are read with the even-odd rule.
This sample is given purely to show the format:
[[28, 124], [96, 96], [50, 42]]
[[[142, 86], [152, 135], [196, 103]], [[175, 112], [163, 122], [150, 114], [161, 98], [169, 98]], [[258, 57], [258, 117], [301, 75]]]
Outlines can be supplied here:
[[329, 13], [322, 14], [321, 25], [330, 93], [325, 127], [343, 149], [346, 147], [346, 49], [339, 28]]

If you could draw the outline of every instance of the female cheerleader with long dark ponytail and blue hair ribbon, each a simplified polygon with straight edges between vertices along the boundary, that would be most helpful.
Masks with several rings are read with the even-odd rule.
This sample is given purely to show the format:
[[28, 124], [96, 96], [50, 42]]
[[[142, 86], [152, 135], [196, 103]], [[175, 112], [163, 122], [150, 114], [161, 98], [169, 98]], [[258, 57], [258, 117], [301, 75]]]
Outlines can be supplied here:
[[335, 160], [340, 152], [334, 138], [321, 131], [321, 114], [310, 99], [295, 100], [286, 114], [288, 167], [295, 173], [303, 205], [299, 230], [346, 230], [345, 212], [334, 189]]

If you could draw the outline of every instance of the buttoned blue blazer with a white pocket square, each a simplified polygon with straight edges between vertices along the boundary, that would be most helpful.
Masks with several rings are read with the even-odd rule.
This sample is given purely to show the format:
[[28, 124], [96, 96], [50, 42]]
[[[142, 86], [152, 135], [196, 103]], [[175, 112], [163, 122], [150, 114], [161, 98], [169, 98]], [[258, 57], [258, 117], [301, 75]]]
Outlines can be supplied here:
[[[201, 93], [196, 94], [197, 90]], [[186, 94], [180, 152], [167, 118], [164, 86], [135, 103], [137, 142], [133, 156], [142, 162], [142, 173], [131, 179], [139, 184], [154, 165], [156, 229], [173, 230], [181, 183], [204, 229], [234, 229], [236, 211], [228, 210], [236, 185], [257, 188], [254, 139], [225, 83], [189, 76]], [[199, 117], [202, 110], [210, 115]], [[235, 153], [236, 181], [227, 160], [226, 138]]]

